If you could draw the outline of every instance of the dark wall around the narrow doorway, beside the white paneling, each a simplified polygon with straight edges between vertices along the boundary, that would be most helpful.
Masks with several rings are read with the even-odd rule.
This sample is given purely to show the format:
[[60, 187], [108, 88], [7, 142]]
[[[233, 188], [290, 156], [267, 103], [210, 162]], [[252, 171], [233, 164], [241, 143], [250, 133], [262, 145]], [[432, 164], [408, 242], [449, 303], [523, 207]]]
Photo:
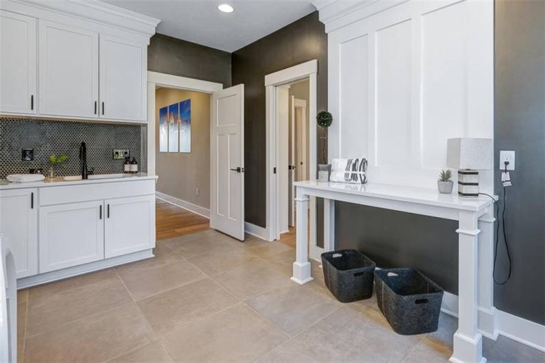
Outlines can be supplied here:
[[[265, 75], [314, 59], [318, 60], [316, 86], [320, 111], [327, 108], [327, 35], [318, 21], [318, 12], [232, 54], [233, 84], [244, 84], [246, 222], [265, 227]], [[318, 132], [321, 136], [319, 128]]]

